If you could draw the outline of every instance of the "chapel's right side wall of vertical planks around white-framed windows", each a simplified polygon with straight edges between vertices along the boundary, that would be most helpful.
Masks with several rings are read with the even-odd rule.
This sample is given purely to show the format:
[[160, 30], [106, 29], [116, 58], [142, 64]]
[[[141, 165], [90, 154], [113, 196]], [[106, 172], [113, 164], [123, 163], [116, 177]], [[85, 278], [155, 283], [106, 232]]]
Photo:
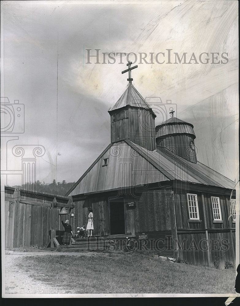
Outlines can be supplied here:
[[[175, 194], [178, 247], [182, 245], [179, 257], [196, 265], [214, 266], [214, 261], [219, 261], [221, 268], [226, 261], [235, 263], [235, 229], [232, 217], [228, 220], [230, 196], [193, 190], [189, 193], [197, 195], [200, 222], [189, 220], [187, 195]], [[222, 223], [213, 221], [211, 196], [219, 197]]]

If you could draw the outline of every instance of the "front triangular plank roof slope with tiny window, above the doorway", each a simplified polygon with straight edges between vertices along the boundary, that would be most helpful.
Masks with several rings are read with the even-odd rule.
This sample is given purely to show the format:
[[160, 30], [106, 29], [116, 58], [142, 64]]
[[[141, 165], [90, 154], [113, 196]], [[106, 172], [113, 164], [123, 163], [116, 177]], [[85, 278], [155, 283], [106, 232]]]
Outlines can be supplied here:
[[[108, 157], [108, 165], [103, 159]], [[112, 146], [70, 192], [70, 196], [167, 181], [168, 178], [124, 141]]]

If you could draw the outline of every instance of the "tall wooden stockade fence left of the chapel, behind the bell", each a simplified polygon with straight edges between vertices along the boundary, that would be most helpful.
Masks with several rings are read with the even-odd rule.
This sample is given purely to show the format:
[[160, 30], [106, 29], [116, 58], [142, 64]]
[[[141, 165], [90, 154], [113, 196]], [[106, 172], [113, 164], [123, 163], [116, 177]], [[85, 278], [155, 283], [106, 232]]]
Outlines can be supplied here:
[[[71, 197], [5, 187], [5, 248], [58, 246], [64, 228], [59, 212], [74, 207]], [[74, 228], [74, 218], [64, 215]]]

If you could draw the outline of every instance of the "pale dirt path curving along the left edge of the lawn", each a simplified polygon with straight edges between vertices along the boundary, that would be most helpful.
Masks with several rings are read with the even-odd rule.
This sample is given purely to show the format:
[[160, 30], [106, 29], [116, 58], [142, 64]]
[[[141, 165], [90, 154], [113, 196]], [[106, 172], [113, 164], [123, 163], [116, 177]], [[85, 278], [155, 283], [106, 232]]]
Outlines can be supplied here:
[[[5, 251], [5, 294], [43, 294], [43, 293], [52, 293], [59, 294], [65, 293], [60, 288], [45, 284], [38, 280], [35, 280], [32, 276], [33, 271], [29, 269], [26, 273], [21, 271], [17, 267], [22, 258], [29, 256], [97, 256], [94, 252], [51, 252], [51, 251], [42, 251], [42, 252], [16, 252], [16, 251]], [[4, 276], [3, 276], [4, 277]]]

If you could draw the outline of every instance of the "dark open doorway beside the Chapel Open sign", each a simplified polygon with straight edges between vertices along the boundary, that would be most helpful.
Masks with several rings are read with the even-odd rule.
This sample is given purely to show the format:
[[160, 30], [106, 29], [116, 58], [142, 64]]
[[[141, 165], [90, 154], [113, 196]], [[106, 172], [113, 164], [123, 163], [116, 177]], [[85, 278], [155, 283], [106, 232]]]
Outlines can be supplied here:
[[124, 199], [110, 201], [110, 234], [125, 234]]

